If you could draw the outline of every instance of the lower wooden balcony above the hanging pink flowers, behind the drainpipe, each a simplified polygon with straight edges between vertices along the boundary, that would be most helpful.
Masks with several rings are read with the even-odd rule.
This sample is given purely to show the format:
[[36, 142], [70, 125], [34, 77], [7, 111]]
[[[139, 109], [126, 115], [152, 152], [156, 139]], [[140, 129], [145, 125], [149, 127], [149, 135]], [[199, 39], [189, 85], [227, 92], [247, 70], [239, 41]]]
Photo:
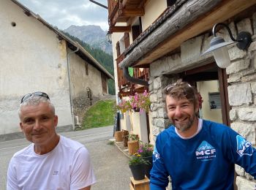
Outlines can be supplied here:
[[[116, 64], [117, 64], [117, 77], [118, 77], [118, 88], [120, 91], [120, 94], [123, 96], [127, 94], [133, 94], [135, 91], [141, 92], [146, 89], [144, 86], [136, 86], [136, 84], [129, 82], [126, 77], [124, 77], [123, 70], [119, 68], [118, 64], [121, 63], [121, 61], [124, 60], [124, 53], [121, 54], [121, 56], [118, 56], [116, 58]], [[133, 68], [133, 77], [140, 78], [143, 80], [148, 80], [149, 77], [149, 69], [148, 68]], [[125, 89], [125, 90], [124, 90]]]

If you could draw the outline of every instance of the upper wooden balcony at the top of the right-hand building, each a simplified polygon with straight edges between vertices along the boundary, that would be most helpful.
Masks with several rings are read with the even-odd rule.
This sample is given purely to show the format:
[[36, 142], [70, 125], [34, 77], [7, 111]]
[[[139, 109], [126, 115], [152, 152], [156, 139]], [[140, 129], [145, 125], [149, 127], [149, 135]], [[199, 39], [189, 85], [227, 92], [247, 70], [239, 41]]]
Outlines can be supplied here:
[[131, 26], [116, 26], [127, 23], [129, 18], [143, 16], [146, 0], [108, 0], [108, 24], [110, 32], [130, 31]]

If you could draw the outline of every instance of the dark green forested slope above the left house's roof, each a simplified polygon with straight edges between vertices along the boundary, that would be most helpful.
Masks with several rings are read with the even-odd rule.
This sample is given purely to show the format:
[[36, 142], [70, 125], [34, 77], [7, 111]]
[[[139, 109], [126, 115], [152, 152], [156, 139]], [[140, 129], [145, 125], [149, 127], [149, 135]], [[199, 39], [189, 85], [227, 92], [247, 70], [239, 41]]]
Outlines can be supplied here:
[[[113, 68], [113, 56], [110, 56], [110, 54], [105, 53], [104, 51], [100, 49], [95, 49], [91, 47], [89, 44], [86, 42], [83, 42], [82, 40], [78, 39], [77, 37], [73, 37], [72, 35], [68, 34], [67, 32], [61, 31], [67, 37], [70, 39], [78, 42], [83, 48], [85, 48], [88, 53], [91, 54], [98, 62], [101, 64], [107, 71], [114, 76], [114, 68]], [[115, 90], [115, 81], [112, 79], [108, 80], [108, 92], [109, 94], [116, 94]]]

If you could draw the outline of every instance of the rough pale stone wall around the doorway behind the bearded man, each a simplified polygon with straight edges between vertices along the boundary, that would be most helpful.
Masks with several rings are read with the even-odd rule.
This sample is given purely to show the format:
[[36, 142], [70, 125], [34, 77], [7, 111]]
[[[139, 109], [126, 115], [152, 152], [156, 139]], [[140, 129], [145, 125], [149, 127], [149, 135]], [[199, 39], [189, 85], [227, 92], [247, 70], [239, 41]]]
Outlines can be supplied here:
[[[231, 65], [227, 67], [228, 99], [231, 107], [231, 128], [256, 145], [256, 12], [252, 18], [245, 18], [238, 23], [229, 23], [233, 36], [239, 31], [249, 31], [252, 34], [252, 44], [249, 49], [239, 50], [236, 45], [230, 45]], [[226, 42], [231, 41], [226, 29], [217, 33]], [[154, 139], [162, 132], [169, 120], [165, 110], [165, 97], [162, 90], [169, 83], [177, 80], [179, 72], [196, 68], [214, 61], [212, 54], [200, 56], [208, 49], [211, 37], [208, 34], [187, 40], [181, 45], [181, 53], [162, 57], [154, 61], [150, 67], [149, 92], [151, 94], [152, 130]], [[255, 180], [246, 174], [244, 169], [236, 166], [238, 189], [255, 189]]]

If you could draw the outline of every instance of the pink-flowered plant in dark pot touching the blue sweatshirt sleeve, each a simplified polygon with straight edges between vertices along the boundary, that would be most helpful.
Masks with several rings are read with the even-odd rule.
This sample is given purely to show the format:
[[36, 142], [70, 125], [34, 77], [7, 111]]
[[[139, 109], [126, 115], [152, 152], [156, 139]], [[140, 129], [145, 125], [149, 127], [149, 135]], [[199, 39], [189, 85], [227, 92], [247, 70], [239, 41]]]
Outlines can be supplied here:
[[150, 179], [150, 170], [153, 166], [153, 145], [142, 142], [138, 149], [138, 153], [145, 161], [148, 161], [148, 164], [145, 165], [145, 172], [148, 179]]

